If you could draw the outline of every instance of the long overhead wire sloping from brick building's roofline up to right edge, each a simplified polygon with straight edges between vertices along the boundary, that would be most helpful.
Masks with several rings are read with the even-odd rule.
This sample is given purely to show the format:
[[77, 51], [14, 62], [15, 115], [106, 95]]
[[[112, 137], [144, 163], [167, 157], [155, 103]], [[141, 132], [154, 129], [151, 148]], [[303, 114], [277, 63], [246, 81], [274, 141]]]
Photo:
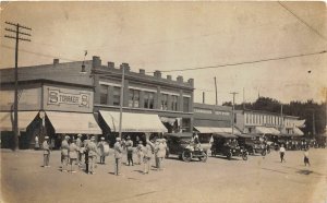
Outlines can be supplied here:
[[[253, 64], [253, 63], [267, 62], [267, 61], [277, 61], [277, 60], [307, 57], [307, 56], [314, 56], [314, 55], [323, 55], [326, 52], [327, 52], [326, 50], [323, 50], [323, 51], [310, 52], [310, 53], [259, 59], [259, 60], [254, 60], [254, 61], [243, 61], [243, 62], [235, 62], [235, 63], [225, 63], [225, 64], [217, 64], [217, 65], [186, 68], [186, 69], [174, 69], [174, 70], [167, 70], [167, 71], [161, 71], [161, 72], [180, 72], [180, 71], [194, 71], [194, 70], [203, 70], [203, 69], [217, 69], [217, 68], [223, 68], [223, 67], [237, 67], [237, 65], [242, 65], [242, 64]], [[154, 72], [147, 72], [147, 73], [154, 73]]]

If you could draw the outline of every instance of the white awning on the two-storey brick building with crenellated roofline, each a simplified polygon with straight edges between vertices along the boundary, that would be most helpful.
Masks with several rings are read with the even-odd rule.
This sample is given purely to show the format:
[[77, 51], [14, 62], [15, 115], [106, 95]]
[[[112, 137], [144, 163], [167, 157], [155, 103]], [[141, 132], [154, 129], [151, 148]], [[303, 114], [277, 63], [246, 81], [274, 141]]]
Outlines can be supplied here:
[[[100, 115], [112, 132], [119, 132], [120, 112], [100, 110]], [[122, 132], [168, 132], [158, 115], [122, 114]]]

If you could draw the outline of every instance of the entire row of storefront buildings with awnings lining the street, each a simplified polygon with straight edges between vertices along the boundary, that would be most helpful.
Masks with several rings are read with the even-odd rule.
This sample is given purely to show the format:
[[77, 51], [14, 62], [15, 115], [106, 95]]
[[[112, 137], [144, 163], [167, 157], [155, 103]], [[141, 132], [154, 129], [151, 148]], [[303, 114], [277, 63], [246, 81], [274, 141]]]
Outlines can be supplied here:
[[[82, 64], [85, 72], [81, 72]], [[13, 69], [0, 72], [1, 147], [10, 147], [14, 74]], [[282, 130], [279, 118], [271, 119], [278, 123], [268, 127], [268, 117], [251, 117], [250, 120], [247, 115], [254, 112], [237, 111], [233, 117], [231, 107], [194, 103], [193, 79], [162, 77], [160, 71], [148, 75], [142, 69], [132, 72], [128, 63], [118, 68], [113, 62], [104, 65], [99, 57], [68, 63], [55, 59], [52, 64], [21, 68], [19, 84], [21, 148], [33, 147], [35, 136], [41, 142], [46, 134], [56, 146], [60, 145], [62, 134], [80, 133], [105, 136], [113, 143], [119, 133], [120, 110], [123, 136], [129, 134], [133, 139], [144, 134], [160, 136], [165, 132], [195, 131], [202, 135], [202, 142], [208, 142], [213, 133], [253, 133], [255, 129], [256, 133], [280, 134]], [[231, 128], [232, 118], [234, 129]], [[261, 118], [262, 122], [253, 122]], [[293, 124], [292, 129], [292, 133], [301, 134], [298, 126]]]

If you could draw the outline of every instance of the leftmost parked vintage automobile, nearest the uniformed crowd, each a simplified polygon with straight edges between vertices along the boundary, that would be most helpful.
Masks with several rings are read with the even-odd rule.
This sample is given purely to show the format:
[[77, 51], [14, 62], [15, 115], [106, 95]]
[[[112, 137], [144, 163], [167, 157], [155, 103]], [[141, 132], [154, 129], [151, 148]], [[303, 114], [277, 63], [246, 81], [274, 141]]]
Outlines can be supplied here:
[[207, 160], [207, 152], [192, 142], [192, 133], [166, 133], [164, 138], [167, 140], [166, 157], [174, 154], [184, 162], [191, 162], [198, 158], [201, 162]]

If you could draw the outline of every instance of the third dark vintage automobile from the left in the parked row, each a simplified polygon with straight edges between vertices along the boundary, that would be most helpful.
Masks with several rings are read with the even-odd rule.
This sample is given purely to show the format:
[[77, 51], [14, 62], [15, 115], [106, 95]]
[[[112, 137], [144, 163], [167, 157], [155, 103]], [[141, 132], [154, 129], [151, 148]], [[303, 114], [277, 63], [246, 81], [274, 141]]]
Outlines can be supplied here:
[[261, 154], [266, 156], [270, 153], [269, 145], [261, 141], [257, 134], [238, 134], [238, 142], [240, 146], [243, 146], [249, 154]]

